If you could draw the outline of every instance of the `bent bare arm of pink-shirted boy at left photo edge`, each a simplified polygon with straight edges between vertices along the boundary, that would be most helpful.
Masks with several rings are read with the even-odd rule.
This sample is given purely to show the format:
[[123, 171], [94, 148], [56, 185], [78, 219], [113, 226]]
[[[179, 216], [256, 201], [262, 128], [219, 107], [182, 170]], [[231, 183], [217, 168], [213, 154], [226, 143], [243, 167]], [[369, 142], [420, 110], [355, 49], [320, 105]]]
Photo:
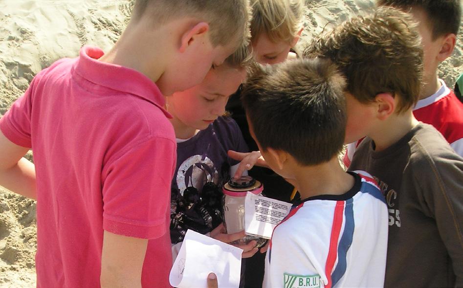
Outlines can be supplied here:
[[11, 142], [0, 131], [0, 185], [37, 199], [34, 164], [22, 158], [28, 150]]

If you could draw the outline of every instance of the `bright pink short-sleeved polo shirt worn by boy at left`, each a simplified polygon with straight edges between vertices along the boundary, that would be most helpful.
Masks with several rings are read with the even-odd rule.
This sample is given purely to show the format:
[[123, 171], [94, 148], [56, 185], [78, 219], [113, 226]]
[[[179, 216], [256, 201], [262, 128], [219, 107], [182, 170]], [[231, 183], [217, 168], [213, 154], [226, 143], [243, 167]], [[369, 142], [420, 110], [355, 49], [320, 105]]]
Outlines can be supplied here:
[[41, 71], [0, 119], [37, 173], [37, 287], [100, 287], [103, 230], [150, 239], [143, 287], [170, 287], [175, 133], [145, 75], [80, 57]]

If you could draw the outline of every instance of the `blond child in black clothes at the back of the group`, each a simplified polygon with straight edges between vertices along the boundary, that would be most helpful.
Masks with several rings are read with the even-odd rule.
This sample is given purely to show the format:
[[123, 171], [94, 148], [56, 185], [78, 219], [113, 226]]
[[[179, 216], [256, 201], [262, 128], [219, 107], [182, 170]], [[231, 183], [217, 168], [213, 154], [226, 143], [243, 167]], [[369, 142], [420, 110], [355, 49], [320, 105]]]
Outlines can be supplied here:
[[[251, 7], [251, 46], [256, 61], [261, 64], [277, 64], [287, 59], [295, 59], [297, 55], [291, 48], [296, 45], [303, 30], [304, 0], [251, 0]], [[249, 134], [246, 115], [240, 101], [240, 91], [230, 97], [226, 110], [238, 123], [250, 150], [257, 150], [257, 145]], [[267, 168], [253, 167], [249, 175], [264, 184], [265, 196], [290, 201], [294, 187], [278, 174]], [[257, 253], [254, 257], [246, 259], [247, 287], [262, 285], [264, 258], [265, 255]]]

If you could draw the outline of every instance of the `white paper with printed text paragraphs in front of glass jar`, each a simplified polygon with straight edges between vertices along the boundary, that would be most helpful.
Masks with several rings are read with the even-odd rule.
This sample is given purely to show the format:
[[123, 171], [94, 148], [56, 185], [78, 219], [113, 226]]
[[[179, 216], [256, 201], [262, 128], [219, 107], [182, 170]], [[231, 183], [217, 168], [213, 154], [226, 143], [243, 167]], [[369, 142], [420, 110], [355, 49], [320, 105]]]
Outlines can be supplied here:
[[290, 208], [290, 203], [248, 192], [244, 199], [246, 234], [270, 239], [273, 228], [282, 222]]

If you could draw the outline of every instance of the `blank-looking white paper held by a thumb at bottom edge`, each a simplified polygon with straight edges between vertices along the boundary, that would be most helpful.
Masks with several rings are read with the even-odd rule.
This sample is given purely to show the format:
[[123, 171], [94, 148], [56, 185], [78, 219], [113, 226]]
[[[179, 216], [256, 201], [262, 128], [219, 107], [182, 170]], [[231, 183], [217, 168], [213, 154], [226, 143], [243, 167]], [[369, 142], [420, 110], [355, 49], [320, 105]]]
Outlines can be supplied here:
[[172, 266], [169, 281], [178, 288], [206, 288], [207, 275], [217, 275], [219, 287], [238, 288], [243, 250], [188, 230]]

